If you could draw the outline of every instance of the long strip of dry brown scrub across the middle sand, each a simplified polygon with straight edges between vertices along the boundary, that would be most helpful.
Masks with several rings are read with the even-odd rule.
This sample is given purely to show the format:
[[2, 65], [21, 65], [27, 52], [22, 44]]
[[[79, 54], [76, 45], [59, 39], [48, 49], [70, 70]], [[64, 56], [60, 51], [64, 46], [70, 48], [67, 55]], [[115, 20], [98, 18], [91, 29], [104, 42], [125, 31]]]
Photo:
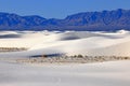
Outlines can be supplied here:
[[82, 56], [82, 55], [48, 57], [46, 55], [42, 55], [42, 57], [17, 59], [16, 62], [25, 62], [25, 63], [90, 63], [90, 62], [103, 62], [103, 61], [114, 61], [114, 60], [130, 60], [130, 57]]

